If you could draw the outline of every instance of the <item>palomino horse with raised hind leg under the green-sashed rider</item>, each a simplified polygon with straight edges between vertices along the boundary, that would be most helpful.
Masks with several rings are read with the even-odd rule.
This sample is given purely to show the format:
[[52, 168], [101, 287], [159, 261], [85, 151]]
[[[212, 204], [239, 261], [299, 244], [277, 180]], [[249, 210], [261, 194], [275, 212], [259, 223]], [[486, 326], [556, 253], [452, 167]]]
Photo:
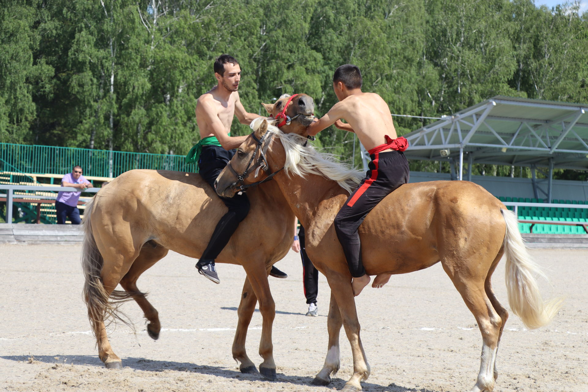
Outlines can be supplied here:
[[[314, 103], [308, 95], [292, 102], [300, 116], [288, 128], [304, 128], [312, 120]], [[255, 304], [263, 317], [259, 354], [260, 373], [275, 380], [272, 323], [275, 303], [269, 291], [268, 273], [292, 245], [295, 216], [273, 182], [248, 193], [249, 215], [240, 223], [216, 262], [240, 264], [247, 273], [239, 304], [239, 322], [233, 341], [233, 358], [244, 373], [256, 372], [245, 351], [245, 339]], [[86, 207], [82, 266], [83, 296], [95, 333], [98, 355], [108, 368], [120, 368], [121, 359], [106, 336], [105, 319], [121, 318], [118, 304], [134, 299], [149, 321], [147, 331], [158, 339], [158, 312], [136, 286], [145, 270], [168, 250], [198, 258], [208, 244], [226, 207], [211, 186], [194, 173], [163, 170], [131, 170], [112, 180]], [[194, 274], [195, 282], [210, 284]], [[125, 291], [115, 290], [121, 284]]]

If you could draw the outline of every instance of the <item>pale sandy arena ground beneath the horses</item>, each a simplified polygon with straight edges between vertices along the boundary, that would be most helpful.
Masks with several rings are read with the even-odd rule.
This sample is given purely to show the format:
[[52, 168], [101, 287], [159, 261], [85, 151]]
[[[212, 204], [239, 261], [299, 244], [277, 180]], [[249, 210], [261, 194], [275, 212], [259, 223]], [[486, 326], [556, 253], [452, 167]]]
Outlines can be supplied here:
[[[276, 301], [273, 343], [278, 381], [241, 374], [231, 356], [245, 273], [219, 265], [222, 283], [199, 276], [195, 260], [171, 253], [139, 279], [159, 310], [161, 336], [145, 331], [135, 303], [124, 310], [137, 333], [119, 326], [109, 337], [123, 360], [107, 370], [98, 359], [82, 302], [78, 245], [0, 245], [0, 389], [7, 391], [327, 391], [352, 373], [342, 333], [342, 366], [328, 387], [310, 385], [327, 349], [329, 287], [321, 276], [319, 317], [305, 317], [302, 266], [290, 252], [277, 266], [288, 279], [270, 278]], [[506, 324], [495, 391], [588, 391], [588, 250], [533, 250], [553, 287], [565, 296], [556, 319], [526, 330], [511, 314]], [[507, 307], [504, 262], [494, 274]], [[441, 266], [393, 276], [383, 289], [357, 299], [362, 340], [372, 367], [369, 392], [469, 391], [479, 370], [482, 338], [475, 319]], [[509, 309], [510, 311], [510, 309]], [[253, 316], [248, 353], [257, 364], [261, 315]]]

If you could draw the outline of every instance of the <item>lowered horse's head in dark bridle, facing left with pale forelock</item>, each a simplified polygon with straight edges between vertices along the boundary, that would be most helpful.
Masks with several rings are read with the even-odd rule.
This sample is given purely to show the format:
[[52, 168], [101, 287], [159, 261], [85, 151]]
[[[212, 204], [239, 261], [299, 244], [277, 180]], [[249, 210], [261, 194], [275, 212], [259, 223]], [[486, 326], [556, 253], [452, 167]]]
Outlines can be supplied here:
[[[273, 131], [274, 133], [268, 131], [266, 119], [253, 121], [252, 128], [256, 130], [239, 146], [237, 153], [216, 178], [215, 189], [220, 196], [233, 197], [237, 192], [244, 192], [250, 186], [272, 179], [283, 169], [284, 154], [280, 155], [283, 159], [279, 163], [273, 162], [267, 155], [277, 130]], [[283, 149], [281, 151], [283, 152]], [[272, 156], [275, 156], [276, 152], [273, 151]]]

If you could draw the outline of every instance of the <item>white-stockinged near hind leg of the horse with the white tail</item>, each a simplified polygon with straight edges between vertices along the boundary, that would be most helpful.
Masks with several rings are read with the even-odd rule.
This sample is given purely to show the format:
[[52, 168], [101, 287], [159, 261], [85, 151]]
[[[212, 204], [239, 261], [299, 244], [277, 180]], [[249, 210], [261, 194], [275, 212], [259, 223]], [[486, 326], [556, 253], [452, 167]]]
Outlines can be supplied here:
[[[476, 385], [471, 392], [492, 392], [494, 389], [494, 364], [502, 318], [494, 309], [492, 301], [486, 294], [486, 276], [481, 276], [480, 266], [485, 260], [467, 260], [447, 263], [441, 260], [443, 269], [451, 278], [457, 291], [462, 295], [467, 307], [472, 312], [482, 333], [482, 356], [480, 372]], [[483, 268], [483, 267], [482, 267]]]

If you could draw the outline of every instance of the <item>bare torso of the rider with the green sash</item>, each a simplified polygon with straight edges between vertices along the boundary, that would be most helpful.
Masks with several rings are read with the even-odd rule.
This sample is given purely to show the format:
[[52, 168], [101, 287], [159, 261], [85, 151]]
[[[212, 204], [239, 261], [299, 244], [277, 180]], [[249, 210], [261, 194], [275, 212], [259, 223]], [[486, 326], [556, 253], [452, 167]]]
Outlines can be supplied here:
[[212, 129], [214, 128], [218, 132], [219, 125], [222, 125], [226, 135], [229, 134], [235, 117], [235, 102], [238, 99], [238, 92], [232, 92], [228, 100], [223, 99], [219, 94], [218, 86], [214, 86], [198, 98], [196, 124], [200, 130], [201, 139], [215, 136]]

